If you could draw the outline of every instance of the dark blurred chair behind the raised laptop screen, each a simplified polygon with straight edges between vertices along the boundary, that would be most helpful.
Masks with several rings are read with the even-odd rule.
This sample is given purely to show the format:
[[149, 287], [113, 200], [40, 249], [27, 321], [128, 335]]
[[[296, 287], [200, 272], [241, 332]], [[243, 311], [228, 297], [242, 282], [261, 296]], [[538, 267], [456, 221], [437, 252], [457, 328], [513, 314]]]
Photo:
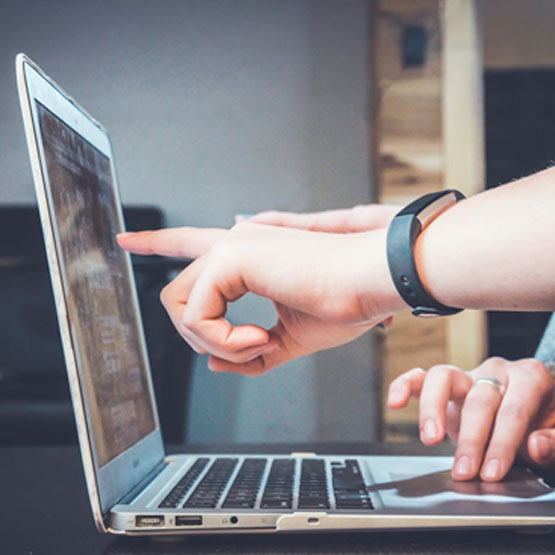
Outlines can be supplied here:
[[[157, 208], [124, 209], [129, 230], [163, 226]], [[183, 442], [192, 351], [159, 292], [182, 262], [134, 257], [139, 304], [164, 440]], [[0, 206], [0, 444], [76, 441], [42, 230], [34, 206]]]

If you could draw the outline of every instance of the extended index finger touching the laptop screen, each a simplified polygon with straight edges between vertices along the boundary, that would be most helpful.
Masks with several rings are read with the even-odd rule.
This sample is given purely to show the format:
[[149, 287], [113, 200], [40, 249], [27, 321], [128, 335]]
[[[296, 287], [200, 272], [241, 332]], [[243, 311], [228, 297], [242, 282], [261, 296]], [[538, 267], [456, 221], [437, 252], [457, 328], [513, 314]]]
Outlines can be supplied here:
[[227, 229], [173, 227], [120, 233], [117, 242], [121, 248], [134, 254], [198, 258], [226, 233], [229, 233]]

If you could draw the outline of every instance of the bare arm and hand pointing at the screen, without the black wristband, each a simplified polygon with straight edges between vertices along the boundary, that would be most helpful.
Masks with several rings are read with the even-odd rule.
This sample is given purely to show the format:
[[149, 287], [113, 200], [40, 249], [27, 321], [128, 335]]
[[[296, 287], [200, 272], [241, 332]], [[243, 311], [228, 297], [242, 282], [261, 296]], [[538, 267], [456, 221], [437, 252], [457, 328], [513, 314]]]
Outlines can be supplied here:
[[[440, 215], [415, 251], [431, 295], [454, 307], [554, 310], [554, 191], [550, 169]], [[168, 313], [187, 341], [214, 355], [213, 368], [261, 373], [350, 341], [408, 308], [389, 273], [386, 236], [385, 228], [335, 234], [242, 223], [118, 241], [136, 253], [198, 257], [164, 291]], [[274, 301], [274, 328], [224, 319], [227, 303], [247, 291]]]

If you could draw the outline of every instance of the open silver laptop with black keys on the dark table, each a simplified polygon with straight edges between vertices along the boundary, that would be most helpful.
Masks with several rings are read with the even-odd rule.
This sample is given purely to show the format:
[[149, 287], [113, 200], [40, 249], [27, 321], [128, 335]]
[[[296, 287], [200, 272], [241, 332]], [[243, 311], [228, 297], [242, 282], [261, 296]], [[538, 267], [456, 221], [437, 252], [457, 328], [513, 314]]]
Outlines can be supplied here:
[[[527, 468], [451, 457], [164, 452], [107, 131], [24, 54], [17, 84], [94, 520], [128, 535], [555, 525]], [[70, 509], [70, 508], [68, 508]]]

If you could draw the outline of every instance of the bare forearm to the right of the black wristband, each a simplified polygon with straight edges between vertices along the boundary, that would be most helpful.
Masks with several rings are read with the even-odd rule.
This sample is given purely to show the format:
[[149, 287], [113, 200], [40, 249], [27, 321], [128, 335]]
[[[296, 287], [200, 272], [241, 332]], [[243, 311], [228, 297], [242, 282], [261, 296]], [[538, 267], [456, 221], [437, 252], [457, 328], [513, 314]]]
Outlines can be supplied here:
[[555, 168], [481, 193], [419, 236], [424, 286], [448, 306], [555, 310]]

